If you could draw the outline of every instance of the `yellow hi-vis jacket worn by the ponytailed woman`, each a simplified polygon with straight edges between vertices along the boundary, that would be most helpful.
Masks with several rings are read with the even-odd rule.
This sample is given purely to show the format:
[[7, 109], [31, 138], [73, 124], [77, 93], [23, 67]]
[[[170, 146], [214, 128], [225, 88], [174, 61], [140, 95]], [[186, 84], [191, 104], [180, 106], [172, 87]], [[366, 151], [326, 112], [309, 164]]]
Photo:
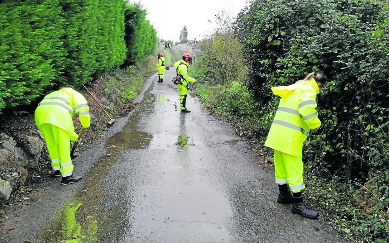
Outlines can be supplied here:
[[315, 110], [319, 87], [312, 78], [289, 86], [272, 87], [272, 91], [281, 100], [265, 146], [302, 157], [303, 143], [310, 129], [321, 125]]

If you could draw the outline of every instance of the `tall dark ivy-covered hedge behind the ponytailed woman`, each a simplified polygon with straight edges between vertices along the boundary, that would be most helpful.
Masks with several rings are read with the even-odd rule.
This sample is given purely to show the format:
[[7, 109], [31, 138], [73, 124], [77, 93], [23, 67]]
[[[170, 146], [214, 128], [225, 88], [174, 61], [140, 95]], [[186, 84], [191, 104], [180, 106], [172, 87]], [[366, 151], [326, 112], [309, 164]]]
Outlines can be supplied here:
[[[389, 212], [388, 16], [388, 3], [379, 0], [253, 0], [237, 19], [249, 86], [261, 107], [277, 103], [272, 86], [309, 72], [327, 75], [318, 103], [323, 125], [304, 161], [317, 175], [363, 185], [356, 208], [370, 209], [376, 220], [356, 230], [373, 239], [389, 237], [382, 219]], [[263, 133], [269, 126], [261, 125]]]

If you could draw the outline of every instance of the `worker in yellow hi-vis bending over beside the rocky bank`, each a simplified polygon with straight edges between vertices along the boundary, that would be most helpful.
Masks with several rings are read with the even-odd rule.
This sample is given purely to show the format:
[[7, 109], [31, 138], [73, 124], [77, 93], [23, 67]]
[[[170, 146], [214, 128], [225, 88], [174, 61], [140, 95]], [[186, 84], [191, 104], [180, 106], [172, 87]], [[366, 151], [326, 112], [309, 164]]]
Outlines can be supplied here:
[[35, 123], [42, 133], [55, 177], [62, 177], [61, 184], [69, 185], [82, 180], [73, 175], [70, 158], [70, 141], [77, 141], [72, 116], [78, 114], [81, 126], [91, 124], [88, 102], [71, 85], [47, 94], [35, 110]]

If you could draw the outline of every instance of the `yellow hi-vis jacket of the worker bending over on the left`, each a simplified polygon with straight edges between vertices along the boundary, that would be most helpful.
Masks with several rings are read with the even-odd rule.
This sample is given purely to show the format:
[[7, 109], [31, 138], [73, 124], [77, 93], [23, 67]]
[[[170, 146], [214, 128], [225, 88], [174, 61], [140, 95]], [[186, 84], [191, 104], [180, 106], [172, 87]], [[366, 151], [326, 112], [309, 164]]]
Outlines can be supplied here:
[[72, 116], [77, 113], [83, 128], [91, 124], [88, 101], [82, 94], [72, 88], [63, 88], [47, 94], [35, 110], [35, 123], [40, 126], [50, 123], [57, 126], [70, 135], [71, 141], [77, 140], [77, 133], [74, 132]]

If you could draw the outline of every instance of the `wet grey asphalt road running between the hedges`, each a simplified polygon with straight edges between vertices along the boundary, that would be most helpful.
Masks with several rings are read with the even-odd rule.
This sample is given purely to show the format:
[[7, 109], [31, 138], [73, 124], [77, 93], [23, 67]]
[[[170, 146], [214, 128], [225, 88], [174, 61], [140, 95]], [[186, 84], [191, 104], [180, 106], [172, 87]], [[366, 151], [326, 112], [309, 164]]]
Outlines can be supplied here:
[[[107, 144], [82, 152], [82, 184], [57, 180], [5, 227], [5, 242], [339, 242], [320, 220], [279, 205], [273, 174], [204, 105], [152, 76]], [[150, 84], [150, 85], [148, 85]], [[116, 134], [114, 134], [117, 132]], [[113, 135], [113, 136], [112, 136]]]

